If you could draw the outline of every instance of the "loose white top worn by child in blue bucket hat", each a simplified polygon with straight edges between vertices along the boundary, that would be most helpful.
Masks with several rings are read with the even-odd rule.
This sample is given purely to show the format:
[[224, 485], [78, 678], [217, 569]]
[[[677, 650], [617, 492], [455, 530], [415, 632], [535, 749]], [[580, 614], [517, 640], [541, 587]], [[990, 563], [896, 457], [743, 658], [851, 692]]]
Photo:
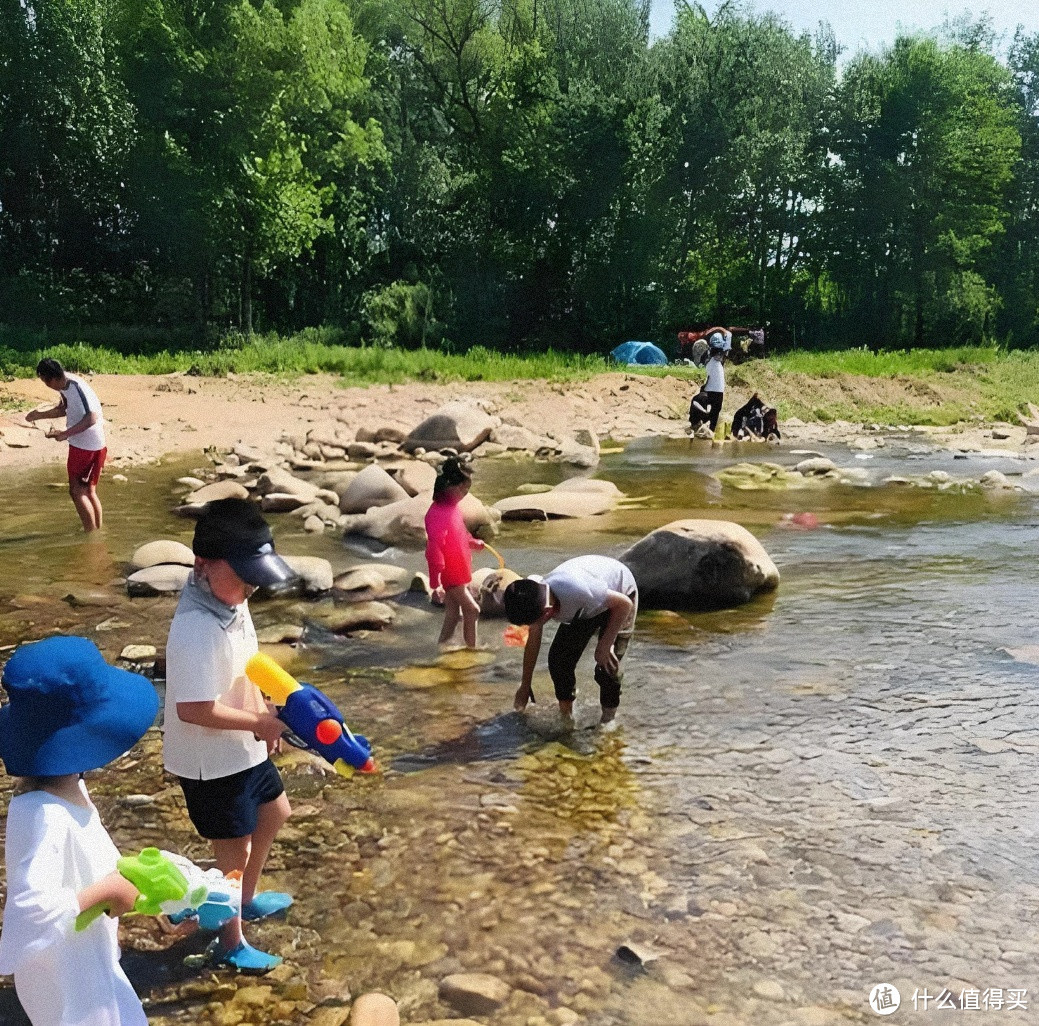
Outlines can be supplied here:
[[75, 930], [79, 892], [113, 872], [119, 856], [98, 810], [47, 791], [19, 794], [6, 845], [0, 973], [15, 974], [32, 1026], [148, 1026], [119, 966], [117, 921], [102, 916]]

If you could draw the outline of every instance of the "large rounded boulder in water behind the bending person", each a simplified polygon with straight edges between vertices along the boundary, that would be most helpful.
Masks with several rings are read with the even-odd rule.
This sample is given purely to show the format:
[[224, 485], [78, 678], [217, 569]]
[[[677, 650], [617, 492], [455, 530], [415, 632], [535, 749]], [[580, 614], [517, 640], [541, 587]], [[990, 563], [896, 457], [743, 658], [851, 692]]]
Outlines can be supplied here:
[[676, 520], [621, 557], [645, 609], [725, 609], [779, 584], [779, 571], [745, 527], [723, 520]]

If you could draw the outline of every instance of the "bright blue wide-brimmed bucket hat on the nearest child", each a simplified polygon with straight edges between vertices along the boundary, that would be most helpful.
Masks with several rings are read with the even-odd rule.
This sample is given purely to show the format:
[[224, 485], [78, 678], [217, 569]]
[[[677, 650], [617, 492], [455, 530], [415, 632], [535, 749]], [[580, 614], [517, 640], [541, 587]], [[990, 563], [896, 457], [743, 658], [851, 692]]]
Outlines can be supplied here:
[[0, 759], [12, 777], [100, 769], [155, 722], [159, 696], [139, 674], [109, 666], [85, 637], [23, 644], [7, 661]]

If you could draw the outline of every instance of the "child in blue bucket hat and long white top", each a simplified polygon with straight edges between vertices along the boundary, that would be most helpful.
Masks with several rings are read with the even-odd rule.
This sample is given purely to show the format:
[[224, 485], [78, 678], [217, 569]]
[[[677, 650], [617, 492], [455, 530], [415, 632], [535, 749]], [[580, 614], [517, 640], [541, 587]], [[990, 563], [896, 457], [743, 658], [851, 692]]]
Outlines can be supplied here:
[[138, 674], [109, 666], [94, 642], [50, 637], [22, 646], [3, 672], [0, 759], [20, 778], [7, 811], [7, 902], [0, 973], [33, 1026], [146, 1026], [119, 966], [114, 918], [76, 932], [100, 901], [129, 912], [137, 889], [115, 871], [119, 852], [82, 774], [129, 752], [159, 699]]

